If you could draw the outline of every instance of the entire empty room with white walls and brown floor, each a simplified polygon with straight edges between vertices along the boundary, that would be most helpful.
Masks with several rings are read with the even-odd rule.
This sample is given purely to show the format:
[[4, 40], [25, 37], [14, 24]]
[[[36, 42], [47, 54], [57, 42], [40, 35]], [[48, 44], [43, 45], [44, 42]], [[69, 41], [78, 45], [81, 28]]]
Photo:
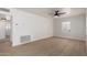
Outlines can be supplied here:
[[85, 8], [0, 8], [1, 56], [86, 56]]

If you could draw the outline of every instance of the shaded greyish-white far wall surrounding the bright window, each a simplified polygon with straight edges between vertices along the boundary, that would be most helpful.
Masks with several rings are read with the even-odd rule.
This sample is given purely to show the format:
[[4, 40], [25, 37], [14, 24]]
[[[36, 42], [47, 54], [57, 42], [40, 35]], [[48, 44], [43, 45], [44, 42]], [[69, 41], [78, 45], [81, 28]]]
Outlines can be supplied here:
[[[70, 21], [70, 32], [66, 35], [62, 32], [62, 22]], [[76, 40], [86, 39], [86, 15], [75, 15], [56, 19], [54, 22], [54, 36], [69, 37]]]

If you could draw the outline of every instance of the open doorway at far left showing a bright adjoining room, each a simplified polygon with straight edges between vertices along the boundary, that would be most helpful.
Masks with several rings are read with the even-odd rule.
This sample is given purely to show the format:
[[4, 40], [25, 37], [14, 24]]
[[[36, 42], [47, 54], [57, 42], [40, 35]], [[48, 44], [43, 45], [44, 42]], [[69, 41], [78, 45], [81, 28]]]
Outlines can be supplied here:
[[0, 12], [0, 43], [11, 42], [11, 15], [10, 12]]

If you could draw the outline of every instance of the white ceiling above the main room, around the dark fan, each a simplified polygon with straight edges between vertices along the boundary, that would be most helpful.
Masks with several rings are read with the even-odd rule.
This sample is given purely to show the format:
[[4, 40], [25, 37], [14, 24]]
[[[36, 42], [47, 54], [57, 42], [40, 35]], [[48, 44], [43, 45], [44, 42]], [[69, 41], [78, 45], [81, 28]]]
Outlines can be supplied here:
[[66, 14], [62, 17], [72, 17], [72, 15], [86, 13], [85, 8], [18, 8], [18, 9], [25, 11], [25, 12], [44, 15], [44, 17], [53, 17], [55, 10], [67, 12]]

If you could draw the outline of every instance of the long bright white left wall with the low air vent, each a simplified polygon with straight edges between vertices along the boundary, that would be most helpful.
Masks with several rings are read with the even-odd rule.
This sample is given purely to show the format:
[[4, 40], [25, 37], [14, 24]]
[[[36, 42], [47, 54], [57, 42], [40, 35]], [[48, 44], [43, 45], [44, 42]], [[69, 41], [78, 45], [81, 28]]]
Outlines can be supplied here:
[[31, 35], [31, 41], [53, 36], [53, 21], [50, 18], [26, 13], [11, 9], [12, 21], [12, 45], [24, 44], [20, 42], [22, 35]]

